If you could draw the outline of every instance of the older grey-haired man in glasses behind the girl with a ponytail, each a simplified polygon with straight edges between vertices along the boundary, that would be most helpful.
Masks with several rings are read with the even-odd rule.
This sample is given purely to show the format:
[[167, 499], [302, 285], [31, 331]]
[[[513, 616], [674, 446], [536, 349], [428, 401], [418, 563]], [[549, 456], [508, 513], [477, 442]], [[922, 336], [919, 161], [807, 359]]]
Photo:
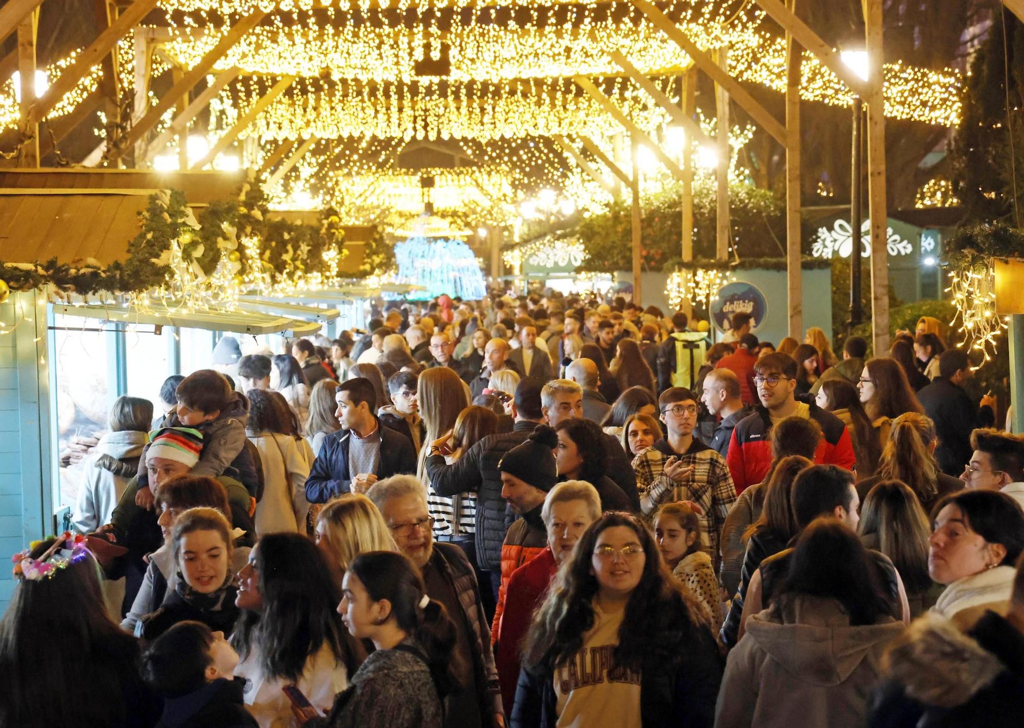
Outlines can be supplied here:
[[386, 478], [367, 496], [384, 516], [398, 551], [420, 567], [427, 596], [444, 605], [455, 624], [451, 666], [463, 689], [444, 699], [444, 726], [504, 726], [490, 630], [469, 559], [458, 545], [433, 542], [427, 490], [416, 478]]

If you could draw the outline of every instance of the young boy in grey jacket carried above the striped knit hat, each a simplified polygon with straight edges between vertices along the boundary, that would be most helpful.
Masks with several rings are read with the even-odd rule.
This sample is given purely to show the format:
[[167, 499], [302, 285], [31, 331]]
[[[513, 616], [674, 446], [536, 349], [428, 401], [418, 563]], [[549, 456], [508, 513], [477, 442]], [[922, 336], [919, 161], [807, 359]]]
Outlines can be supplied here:
[[[203, 452], [190, 475], [216, 478], [228, 468], [233, 468], [246, 489], [256, 495], [259, 478], [252, 454], [246, 448], [246, 422], [249, 420], [249, 400], [246, 396], [233, 392], [223, 374], [213, 369], [193, 372], [181, 380], [175, 394], [177, 407], [168, 415], [166, 427], [193, 428], [203, 435]], [[154, 494], [145, 459], [143, 450], [139, 459], [135, 504], [151, 510]]]

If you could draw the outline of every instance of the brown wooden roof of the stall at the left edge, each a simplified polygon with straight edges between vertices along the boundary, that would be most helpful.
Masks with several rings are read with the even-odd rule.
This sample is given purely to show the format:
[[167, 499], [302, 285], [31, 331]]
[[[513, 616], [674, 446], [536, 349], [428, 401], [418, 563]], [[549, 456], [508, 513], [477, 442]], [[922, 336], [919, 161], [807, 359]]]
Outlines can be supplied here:
[[153, 192], [0, 189], [0, 260], [124, 260]]

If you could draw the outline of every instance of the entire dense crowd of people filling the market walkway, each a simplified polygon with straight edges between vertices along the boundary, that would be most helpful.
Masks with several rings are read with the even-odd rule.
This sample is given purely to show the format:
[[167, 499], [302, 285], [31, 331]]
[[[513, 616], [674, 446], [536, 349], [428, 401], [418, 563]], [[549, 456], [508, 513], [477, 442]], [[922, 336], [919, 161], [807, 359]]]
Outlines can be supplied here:
[[372, 313], [117, 400], [14, 555], [0, 728], [1024, 716], [1024, 438], [939, 322], [869, 356], [622, 298]]

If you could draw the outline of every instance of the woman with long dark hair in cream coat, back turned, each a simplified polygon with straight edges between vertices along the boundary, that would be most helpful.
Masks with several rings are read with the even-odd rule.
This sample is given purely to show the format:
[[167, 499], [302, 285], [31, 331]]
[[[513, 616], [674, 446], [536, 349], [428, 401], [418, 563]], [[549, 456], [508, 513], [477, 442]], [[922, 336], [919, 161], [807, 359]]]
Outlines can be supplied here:
[[295, 413], [278, 392], [249, 392], [249, 440], [263, 463], [263, 498], [256, 504], [256, 535], [306, 533], [305, 485], [313, 454], [298, 434]]

